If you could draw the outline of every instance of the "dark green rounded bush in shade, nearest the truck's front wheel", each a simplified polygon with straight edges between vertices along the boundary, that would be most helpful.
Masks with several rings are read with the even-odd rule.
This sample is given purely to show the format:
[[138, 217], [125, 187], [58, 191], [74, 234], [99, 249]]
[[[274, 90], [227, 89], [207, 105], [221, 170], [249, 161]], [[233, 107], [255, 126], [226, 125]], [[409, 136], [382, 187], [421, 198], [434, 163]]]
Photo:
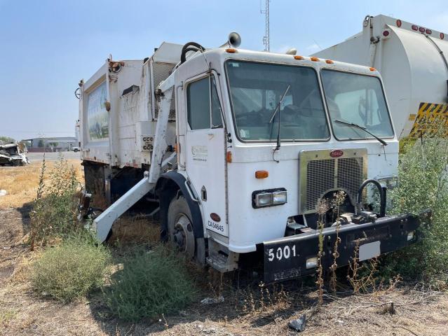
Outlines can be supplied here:
[[111, 276], [104, 300], [114, 316], [125, 321], [158, 318], [179, 311], [193, 300], [196, 290], [186, 265], [163, 246], [134, 251], [123, 268]]

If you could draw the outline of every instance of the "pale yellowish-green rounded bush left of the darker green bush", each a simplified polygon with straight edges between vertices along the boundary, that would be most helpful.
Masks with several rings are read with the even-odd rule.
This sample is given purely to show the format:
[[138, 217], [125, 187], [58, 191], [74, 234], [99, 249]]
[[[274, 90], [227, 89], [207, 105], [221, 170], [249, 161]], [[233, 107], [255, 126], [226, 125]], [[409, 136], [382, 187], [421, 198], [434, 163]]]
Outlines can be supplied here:
[[93, 239], [72, 238], [48, 248], [32, 265], [32, 283], [40, 295], [70, 302], [100, 288], [111, 255]]

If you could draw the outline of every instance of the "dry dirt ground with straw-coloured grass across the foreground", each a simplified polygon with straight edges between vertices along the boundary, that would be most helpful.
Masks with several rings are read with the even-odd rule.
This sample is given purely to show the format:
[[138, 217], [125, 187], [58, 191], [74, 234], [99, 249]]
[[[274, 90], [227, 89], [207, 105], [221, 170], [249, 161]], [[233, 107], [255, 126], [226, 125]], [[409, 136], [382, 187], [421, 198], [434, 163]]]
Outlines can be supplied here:
[[[11, 178], [35, 170], [29, 165]], [[0, 168], [0, 189], [5, 172]], [[27, 190], [34, 190], [30, 183]], [[247, 276], [233, 274], [224, 281], [218, 276], [217, 281], [216, 274], [204, 273], [198, 279], [197, 302], [159, 321], [137, 324], [109, 316], [100, 293], [72, 304], [44, 299], [34, 293], [28, 279], [29, 264], [40, 253], [39, 248], [29, 251], [23, 239], [32, 200], [28, 192], [22, 204], [19, 197], [13, 197], [12, 204], [0, 203], [0, 335], [296, 335], [287, 323], [302, 314], [307, 321], [303, 335], [448, 335], [447, 293], [421, 283], [399, 283], [358, 295], [341, 285], [336, 296], [325, 293], [318, 309], [311, 281], [260, 287]], [[220, 295], [224, 302], [200, 302]]]

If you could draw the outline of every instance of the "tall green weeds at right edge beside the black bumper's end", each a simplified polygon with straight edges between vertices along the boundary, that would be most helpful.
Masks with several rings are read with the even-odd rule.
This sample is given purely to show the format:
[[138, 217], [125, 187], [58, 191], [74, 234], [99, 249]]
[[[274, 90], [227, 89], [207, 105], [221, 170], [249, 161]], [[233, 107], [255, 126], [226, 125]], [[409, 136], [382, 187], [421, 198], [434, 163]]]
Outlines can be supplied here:
[[389, 193], [394, 213], [418, 214], [429, 208], [433, 211], [431, 222], [421, 228], [419, 243], [389, 256], [385, 265], [405, 276], [447, 282], [448, 141], [431, 135], [405, 148], [400, 157], [399, 186]]

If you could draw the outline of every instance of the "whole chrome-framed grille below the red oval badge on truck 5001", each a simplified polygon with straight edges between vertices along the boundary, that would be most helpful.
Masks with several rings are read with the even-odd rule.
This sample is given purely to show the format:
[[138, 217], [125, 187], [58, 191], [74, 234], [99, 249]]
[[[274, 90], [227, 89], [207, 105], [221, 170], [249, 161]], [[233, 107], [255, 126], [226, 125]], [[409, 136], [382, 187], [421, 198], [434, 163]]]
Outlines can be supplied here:
[[315, 212], [319, 200], [332, 190], [344, 190], [354, 204], [358, 188], [367, 179], [367, 150], [344, 148], [343, 151], [341, 158], [332, 158], [331, 150], [300, 153], [301, 214]]

